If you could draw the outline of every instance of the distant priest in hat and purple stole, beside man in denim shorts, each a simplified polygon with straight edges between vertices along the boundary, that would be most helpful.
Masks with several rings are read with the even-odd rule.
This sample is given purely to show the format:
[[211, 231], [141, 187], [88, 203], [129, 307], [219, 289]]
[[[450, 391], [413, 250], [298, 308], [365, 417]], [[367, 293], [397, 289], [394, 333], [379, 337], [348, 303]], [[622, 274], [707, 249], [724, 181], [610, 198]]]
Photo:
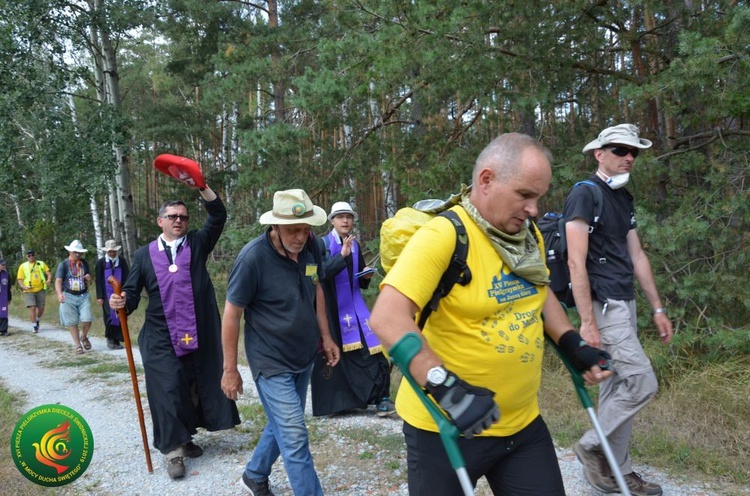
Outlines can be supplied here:
[[130, 273], [128, 262], [119, 256], [120, 245], [114, 239], [104, 242], [104, 256], [96, 261], [94, 274], [96, 275], [96, 302], [104, 312], [104, 337], [107, 338], [107, 348], [121, 350], [122, 325], [117, 312], [109, 306], [109, 297], [113, 288], [109, 283], [110, 276], [114, 276], [120, 284], [124, 284]]

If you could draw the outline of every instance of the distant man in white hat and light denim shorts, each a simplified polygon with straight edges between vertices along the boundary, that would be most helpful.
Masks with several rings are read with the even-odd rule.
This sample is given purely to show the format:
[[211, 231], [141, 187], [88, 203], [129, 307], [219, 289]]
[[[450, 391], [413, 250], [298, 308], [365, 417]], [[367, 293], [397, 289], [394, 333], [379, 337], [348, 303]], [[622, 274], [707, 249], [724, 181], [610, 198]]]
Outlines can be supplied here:
[[[83, 254], [88, 250], [77, 239], [65, 247], [68, 258], [57, 265], [55, 290], [60, 302], [60, 323], [70, 330], [70, 337], [76, 347], [76, 354], [82, 355], [84, 348], [91, 349], [88, 334], [93, 320], [89, 284], [91, 271]], [[78, 325], [81, 328], [78, 328]]]

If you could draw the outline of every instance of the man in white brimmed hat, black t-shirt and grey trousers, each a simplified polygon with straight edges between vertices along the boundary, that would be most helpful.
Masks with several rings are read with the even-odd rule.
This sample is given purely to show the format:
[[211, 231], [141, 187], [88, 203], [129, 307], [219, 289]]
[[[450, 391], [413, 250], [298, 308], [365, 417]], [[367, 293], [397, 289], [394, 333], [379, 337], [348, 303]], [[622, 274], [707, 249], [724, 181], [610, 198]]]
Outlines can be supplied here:
[[[657, 391], [651, 362], [638, 340], [634, 279], [651, 305], [661, 341], [666, 344], [672, 339], [672, 324], [636, 231], [633, 196], [624, 188], [639, 152], [650, 147], [651, 141], [638, 137], [632, 124], [602, 131], [583, 148], [597, 162], [590, 180], [603, 193], [602, 219], [593, 218], [591, 188], [573, 188], [564, 208], [581, 337], [609, 352], [615, 370], [599, 386], [599, 421], [633, 495], [662, 494], [658, 484], [633, 471], [629, 453], [633, 418]], [[619, 492], [596, 432], [586, 432], [573, 449], [591, 485], [604, 493]]]

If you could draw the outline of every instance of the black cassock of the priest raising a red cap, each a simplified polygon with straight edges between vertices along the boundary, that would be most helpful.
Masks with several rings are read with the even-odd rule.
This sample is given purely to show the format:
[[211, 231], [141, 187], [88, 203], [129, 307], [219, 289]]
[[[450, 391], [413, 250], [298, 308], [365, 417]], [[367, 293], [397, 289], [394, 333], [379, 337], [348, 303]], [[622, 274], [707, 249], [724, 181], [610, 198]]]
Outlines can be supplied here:
[[227, 213], [219, 198], [204, 204], [208, 212], [206, 223], [199, 231], [187, 234], [198, 350], [179, 358], [175, 354], [148, 245], [135, 252], [123, 286], [128, 312], [138, 306], [142, 289], [148, 293], [146, 319], [138, 335], [138, 346], [154, 424], [153, 443], [162, 453], [190, 441], [198, 427], [217, 431], [240, 423], [235, 402], [221, 390], [221, 318], [214, 286], [206, 270], [206, 259], [219, 240]]

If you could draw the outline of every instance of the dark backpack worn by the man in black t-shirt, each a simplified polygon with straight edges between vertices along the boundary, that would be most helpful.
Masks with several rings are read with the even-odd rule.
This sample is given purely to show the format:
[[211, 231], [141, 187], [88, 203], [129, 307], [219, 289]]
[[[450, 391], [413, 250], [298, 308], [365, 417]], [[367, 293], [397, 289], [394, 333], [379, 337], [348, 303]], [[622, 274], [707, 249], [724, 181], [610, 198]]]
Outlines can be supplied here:
[[[589, 236], [599, 225], [603, 209], [602, 190], [593, 181], [585, 180], [573, 185], [591, 188], [594, 195], [594, 222], [589, 226]], [[550, 289], [555, 293], [560, 303], [566, 308], [575, 307], [573, 290], [570, 284], [570, 270], [568, 269], [568, 246], [565, 239], [565, 218], [560, 212], [547, 212], [537, 222], [537, 227], [542, 232], [544, 246], [547, 250], [547, 268], [549, 268]]]

